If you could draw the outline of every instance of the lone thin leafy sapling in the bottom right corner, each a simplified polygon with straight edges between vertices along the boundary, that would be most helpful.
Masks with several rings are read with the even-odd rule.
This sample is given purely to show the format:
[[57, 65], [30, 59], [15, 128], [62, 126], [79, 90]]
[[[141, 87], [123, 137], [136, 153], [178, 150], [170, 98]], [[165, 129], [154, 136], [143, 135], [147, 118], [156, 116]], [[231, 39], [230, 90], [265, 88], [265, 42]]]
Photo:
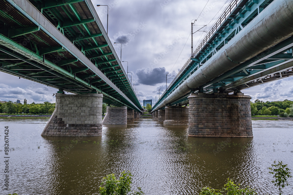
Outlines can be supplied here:
[[269, 173], [274, 175], [273, 178], [275, 178], [272, 183], [279, 187], [279, 195], [281, 195], [283, 193], [282, 189], [286, 185], [290, 186], [287, 182], [287, 179], [292, 178], [290, 169], [287, 168], [287, 164], [283, 165], [282, 161], [278, 161], [278, 164], [274, 161], [274, 164], [272, 164], [272, 167], [270, 167], [269, 170], [271, 171]]

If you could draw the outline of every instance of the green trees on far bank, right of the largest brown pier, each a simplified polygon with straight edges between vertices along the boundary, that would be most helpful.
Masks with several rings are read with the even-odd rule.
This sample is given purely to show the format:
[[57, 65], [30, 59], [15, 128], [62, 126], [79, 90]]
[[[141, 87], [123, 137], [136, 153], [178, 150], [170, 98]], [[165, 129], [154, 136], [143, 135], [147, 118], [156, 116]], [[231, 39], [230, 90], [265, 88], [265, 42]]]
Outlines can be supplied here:
[[293, 101], [260, 101], [250, 102], [251, 115], [280, 115], [282, 117], [293, 117]]

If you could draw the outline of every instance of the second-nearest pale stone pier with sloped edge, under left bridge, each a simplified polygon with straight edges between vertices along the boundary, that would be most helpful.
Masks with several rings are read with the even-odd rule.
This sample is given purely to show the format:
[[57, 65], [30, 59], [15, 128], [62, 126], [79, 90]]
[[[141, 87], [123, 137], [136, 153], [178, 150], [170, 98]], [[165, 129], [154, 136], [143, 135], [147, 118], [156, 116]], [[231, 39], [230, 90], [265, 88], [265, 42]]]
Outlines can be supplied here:
[[107, 106], [107, 112], [103, 120], [103, 125], [127, 125], [127, 107]]

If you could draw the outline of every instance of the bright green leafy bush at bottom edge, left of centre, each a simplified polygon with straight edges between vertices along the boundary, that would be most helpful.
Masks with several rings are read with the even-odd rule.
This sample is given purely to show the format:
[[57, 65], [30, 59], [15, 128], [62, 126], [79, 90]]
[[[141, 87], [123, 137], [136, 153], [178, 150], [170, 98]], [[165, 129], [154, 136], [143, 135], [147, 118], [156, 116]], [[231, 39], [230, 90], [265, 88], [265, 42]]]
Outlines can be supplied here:
[[109, 174], [103, 178], [100, 186], [101, 195], [142, 195], [144, 192], [140, 187], [137, 187], [138, 191], [131, 190], [132, 176], [129, 171], [121, 172], [119, 180], [116, 179], [115, 175]]

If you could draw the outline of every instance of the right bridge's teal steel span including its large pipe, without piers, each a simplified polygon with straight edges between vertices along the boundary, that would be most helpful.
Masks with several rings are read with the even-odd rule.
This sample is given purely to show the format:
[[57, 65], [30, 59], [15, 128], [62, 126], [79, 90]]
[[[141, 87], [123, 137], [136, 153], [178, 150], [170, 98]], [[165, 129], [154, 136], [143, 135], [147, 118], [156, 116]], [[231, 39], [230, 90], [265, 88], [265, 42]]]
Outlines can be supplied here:
[[190, 92], [239, 92], [293, 75], [293, 1], [233, 0], [152, 112], [188, 104]]

